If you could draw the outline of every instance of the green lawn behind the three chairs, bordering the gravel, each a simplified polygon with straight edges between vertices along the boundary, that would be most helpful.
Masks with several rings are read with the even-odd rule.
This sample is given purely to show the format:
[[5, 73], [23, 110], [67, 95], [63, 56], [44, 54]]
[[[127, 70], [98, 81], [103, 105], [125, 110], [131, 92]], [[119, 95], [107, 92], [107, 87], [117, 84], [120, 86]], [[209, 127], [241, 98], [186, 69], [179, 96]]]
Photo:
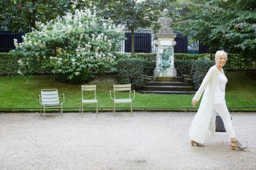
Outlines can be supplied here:
[[[229, 82], [226, 87], [226, 103], [228, 107], [256, 107], [256, 81], [255, 71], [229, 71], [226, 73]], [[97, 98], [99, 107], [112, 107], [109, 91], [113, 83], [118, 83], [118, 78], [112, 74], [96, 77], [91, 84], [97, 84]], [[40, 107], [38, 94], [42, 88], [57, 88], [59, 93], [65, 93], [64, 107], [79, 107], [81, 91], [80, 85], [59, 83], [54, 76], [21, 76], [0, 77], [0, 108], [31, 108]], [[133, 107], [192, 107], [190, 102], [192, 94], [141, 94], [136, 93]], [[91, 105], [92, 107], [93, 105]], [[122, 106], [122, 105], [118, 105]], [[129, 105], [123, 105], [129, 106]], [[1, 109], [4, 110], [4, 109]], [[104, 109], [105, 110], [110, 110]], [[148, 110], [148, 109], [147, 109]], [[234, 110], [234, 109], [232, 109]], [[235, 109], [246, 111], [248, 109]], [[256, 108], [249, 109], [256, 111]], [[17, 111], [14, 109], [13, 111]], [[38, 109], [33, 109], [38, 111]], [[78, 111], [78, 109], [65, 109], [64, 111]]]

